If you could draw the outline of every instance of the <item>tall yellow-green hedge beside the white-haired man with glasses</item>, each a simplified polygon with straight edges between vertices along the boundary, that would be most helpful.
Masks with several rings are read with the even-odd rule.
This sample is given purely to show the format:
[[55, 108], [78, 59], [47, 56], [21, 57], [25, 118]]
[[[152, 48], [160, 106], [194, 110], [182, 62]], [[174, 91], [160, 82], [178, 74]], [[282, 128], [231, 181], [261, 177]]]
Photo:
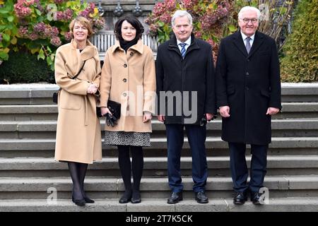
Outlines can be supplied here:
[[293, 32], [283, 47], [281, 78], [285, 82], [318, 81], [318, 1], [299, 2]]

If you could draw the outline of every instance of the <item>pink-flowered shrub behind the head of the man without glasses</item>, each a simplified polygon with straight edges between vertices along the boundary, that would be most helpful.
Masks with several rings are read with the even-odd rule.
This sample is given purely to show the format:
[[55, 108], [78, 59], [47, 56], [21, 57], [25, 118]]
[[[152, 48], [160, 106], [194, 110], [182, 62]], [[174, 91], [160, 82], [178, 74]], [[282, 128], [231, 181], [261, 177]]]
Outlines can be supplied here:
[[196, 37], [213, 46], [213, 56], [218, 52], [218, 42], [223, 37], [225, 22], [232, 10], [233, 1], [220, 0], [165, 0], [158, 2], [146, 18], [151, 35], [158, 35], [158, 42], [169, 40], [171, 18], [177, 10], [187, 10], [193, 17], [193, 32]]

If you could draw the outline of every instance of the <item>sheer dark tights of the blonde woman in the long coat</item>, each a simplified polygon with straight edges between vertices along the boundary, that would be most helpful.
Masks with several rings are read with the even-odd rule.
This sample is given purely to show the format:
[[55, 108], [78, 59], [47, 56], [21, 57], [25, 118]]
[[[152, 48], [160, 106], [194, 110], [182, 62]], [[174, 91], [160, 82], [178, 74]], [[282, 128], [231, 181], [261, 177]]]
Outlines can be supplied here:
[[72, 196], [76, 200], [81, 200], [86, 197], [84, 191], [84, 179], [88, 164], [81, 162], [68, 162], [69, 172], [73, 182]]

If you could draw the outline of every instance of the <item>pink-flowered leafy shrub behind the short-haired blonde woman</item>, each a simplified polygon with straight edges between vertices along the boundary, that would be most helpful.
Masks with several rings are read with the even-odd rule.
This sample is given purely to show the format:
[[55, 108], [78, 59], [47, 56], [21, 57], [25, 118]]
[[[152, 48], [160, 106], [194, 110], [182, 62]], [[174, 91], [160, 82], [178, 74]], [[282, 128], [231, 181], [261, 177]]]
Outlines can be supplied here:
[[[13, 6], [12, 0], [6, 1], [4, 5], [0, 1], [0, 7], [3, 6], [0, 8], [0, 61], [8, 59], [6, 54], [9, 50], [17, 52], [22, 47], [32, 54], [37, 54], [37, 59], [45, 59], [53, 70], [57, 47], [71, 40], [69, 23], [73, 18], [88, 18], [94, 32], [105, 25], [105, 20], [99, 15], [95, 4], [86, 1], [83, 4], [80, 0], [15, 2]], [[2, 18], [2, 15], [6, 18]], [[4, 47], [1, 47], [1, 44]], [[8, 47], [8, 44], [11, 44], [11, 47]]]

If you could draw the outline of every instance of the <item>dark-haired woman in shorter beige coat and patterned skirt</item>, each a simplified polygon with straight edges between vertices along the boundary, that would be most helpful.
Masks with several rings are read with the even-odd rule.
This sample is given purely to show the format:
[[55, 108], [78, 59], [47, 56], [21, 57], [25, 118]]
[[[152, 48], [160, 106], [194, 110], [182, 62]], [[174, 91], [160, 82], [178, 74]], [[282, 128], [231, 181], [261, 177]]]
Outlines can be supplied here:
[[[125, 192], [119, 203], [140, 203], [143, 146], [150, 146], [151, 114], [155, 102], [153, 52], [143, 44], [143, 25], [134, 16], [119, 18], [114, 34], [117, 42], [107, 50], [100, 78], [102, 114], [109, 113], [107, 101], [121, 103], [121, 117], [114, 127], [105, 125], [105, 143], [117, 145], [118, 162]], [[134, 186], [131, 186], [131, 162]]]

